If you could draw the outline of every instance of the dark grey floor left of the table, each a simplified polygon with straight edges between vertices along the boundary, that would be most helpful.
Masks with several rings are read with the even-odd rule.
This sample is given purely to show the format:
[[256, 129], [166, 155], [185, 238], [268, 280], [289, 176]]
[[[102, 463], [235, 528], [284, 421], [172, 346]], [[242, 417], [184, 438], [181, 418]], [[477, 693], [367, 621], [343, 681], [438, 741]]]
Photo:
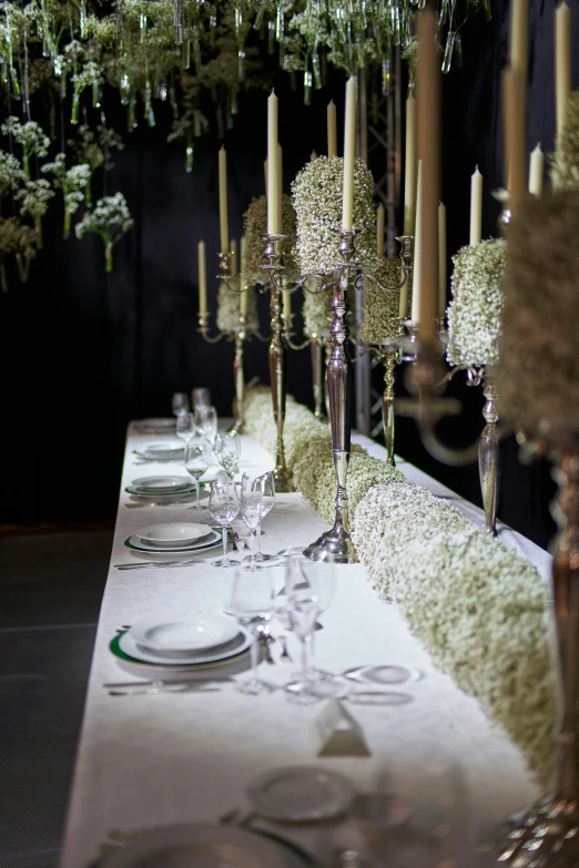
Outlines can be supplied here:
[[59, 865], [112, 530], [0, 538], [0, 868]]

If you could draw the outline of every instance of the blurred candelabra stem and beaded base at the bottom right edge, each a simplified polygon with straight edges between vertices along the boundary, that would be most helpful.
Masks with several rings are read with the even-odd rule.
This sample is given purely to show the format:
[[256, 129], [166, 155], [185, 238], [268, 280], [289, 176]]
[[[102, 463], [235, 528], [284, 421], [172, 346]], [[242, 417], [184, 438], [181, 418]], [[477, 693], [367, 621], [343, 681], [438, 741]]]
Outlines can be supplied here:
[[[573, 437], [575, 435], [575, 437]], [[555, 794], [508, 826], [498, 862], [512, 868], [577, 868], [579, 792], [577, 779], [577, 701], [579, 698], [579, 453], [577, 432], [558, 452], [560, 531], [552, 562], [552, 591], [561, 677], [562, 715], [557, 736]], [[573, 442], [575, 441], [575, 442]]]

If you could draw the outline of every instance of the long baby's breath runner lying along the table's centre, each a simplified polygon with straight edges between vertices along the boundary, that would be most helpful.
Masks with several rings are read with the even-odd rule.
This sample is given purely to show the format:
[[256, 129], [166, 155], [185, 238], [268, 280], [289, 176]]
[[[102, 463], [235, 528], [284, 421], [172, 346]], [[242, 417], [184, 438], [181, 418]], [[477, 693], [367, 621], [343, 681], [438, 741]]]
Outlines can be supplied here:
[[[244, 418], [247, 433], [273, 452], [268, 390], [250, 391]], [[297, 488], [333, 521], [327, 426], [288, 398], [284, 442]], [[532, 564], [362, 447], [352, 450], [347, 490], [354, 545], [380, 595], [550, 783], [559, 694], [548, 591]]]

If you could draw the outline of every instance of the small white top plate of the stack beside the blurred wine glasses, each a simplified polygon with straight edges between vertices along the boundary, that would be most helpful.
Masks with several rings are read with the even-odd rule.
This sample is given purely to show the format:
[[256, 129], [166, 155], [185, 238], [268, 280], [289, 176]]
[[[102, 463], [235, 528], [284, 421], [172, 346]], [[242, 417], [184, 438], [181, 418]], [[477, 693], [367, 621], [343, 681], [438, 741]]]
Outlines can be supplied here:
[[134, 641], [152, 651], [203, 651], [232, 642], [240, 630], [231, 617], [220, 614], [196, 620], [143, 617], [130, 630]]

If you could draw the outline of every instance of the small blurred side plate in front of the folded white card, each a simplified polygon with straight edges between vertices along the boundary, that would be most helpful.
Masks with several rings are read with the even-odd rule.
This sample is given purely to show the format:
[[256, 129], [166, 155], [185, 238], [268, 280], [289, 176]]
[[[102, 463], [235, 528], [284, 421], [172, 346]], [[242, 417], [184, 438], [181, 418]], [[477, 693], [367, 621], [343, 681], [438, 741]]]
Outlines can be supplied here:
[[356, 790], [342, 775], [313, 766], [290, 766], [266, 772], [252, 780], [252, 807], [278, 823], [315, 823], [344, 814]]

